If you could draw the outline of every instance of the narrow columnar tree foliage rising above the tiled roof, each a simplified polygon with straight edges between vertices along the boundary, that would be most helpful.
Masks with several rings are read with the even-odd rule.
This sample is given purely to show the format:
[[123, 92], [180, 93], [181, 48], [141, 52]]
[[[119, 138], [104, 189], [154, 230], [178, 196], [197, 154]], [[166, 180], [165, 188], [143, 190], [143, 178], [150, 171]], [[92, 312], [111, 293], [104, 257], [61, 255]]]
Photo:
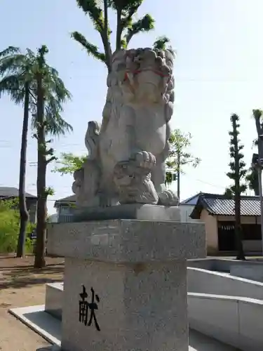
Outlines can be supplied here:
[[234, 180], [234, 185], [231, 185], [225, 192], [227, 196], [236, 196], [238, 194], [242, 194], [247, 189], [245, 183], [241, 183], [242, 180], [245, 180], [245, 176], [247, 174], [247, 170], [245, 169], [245, 162], [243, 161], [243, 153], [241, 152], [244, 148], [244, 145], [241, 145], [240, 140], [238, 139], [238, 135], [240, 134], [238, 128], [240, 124], [238, 124], [239, 117], [237, 114], [232, 114], [231, 116], [231, 124], [232, 131], [229, 131], [230, 135], [230, 146], [229, 146], [229, 154], [231, 161], [229, 162], [230, 171], [227, 173], [227, 176]]

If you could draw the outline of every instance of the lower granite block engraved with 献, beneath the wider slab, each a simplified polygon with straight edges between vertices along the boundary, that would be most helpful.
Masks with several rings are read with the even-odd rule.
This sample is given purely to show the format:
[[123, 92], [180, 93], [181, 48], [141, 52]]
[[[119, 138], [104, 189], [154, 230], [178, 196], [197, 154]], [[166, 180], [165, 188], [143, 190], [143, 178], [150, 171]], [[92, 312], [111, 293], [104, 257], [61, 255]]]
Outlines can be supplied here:
[[[109, 264], [65, 258], [63, 351], [188, 351], [186, 261]], [[79, 294], [100, 299], [90, 326]], [[91, 310], [88, 311], [88, 320]], [[100, 330], [98, 330], [100, 329]]]

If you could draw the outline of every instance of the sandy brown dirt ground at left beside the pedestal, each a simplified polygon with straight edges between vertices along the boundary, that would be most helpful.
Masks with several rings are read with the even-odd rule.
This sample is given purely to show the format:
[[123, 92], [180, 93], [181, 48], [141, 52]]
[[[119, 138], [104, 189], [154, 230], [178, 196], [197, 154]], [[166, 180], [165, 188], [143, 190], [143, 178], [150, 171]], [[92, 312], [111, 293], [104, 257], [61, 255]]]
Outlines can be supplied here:
[[43, 305], [45, 284], [62, 282], [64, 260], [47, 258], [44, 270], [34, 270], [34, 257], [0, 256], [0, 350], [35, 351], [48, 343], [8, 313], [11, 307]]

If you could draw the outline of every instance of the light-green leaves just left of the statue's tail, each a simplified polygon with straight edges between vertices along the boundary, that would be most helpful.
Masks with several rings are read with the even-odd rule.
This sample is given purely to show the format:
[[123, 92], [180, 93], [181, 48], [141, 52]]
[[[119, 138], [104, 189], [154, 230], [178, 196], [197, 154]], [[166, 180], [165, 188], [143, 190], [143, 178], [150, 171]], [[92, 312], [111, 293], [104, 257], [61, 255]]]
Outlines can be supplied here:
[[60, 155], [60, 159], [57, 161], [57, 164], [60, 166], [56, 166], [52, 172], [60, 173], [61, 176], [64, 176], [65, 174], [73, 174], [74, 171], [83, 166], [83, 162], [86, 160], [86, 158], [86, 155], [79, 157], [75, 156], [71, 152], [63, 152]]

